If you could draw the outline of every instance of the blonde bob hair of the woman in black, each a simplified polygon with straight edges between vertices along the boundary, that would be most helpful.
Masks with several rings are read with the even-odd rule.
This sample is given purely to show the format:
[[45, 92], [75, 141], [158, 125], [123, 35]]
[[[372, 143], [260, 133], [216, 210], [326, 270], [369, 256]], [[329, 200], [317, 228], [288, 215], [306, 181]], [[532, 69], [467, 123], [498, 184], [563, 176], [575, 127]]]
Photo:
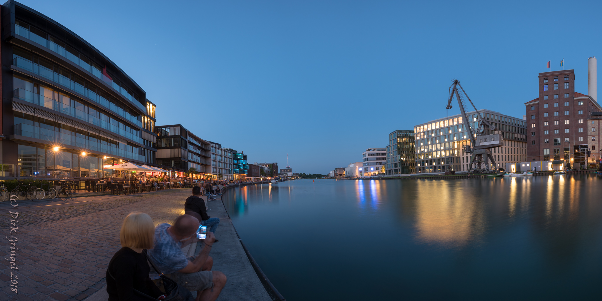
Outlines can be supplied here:
[[119, 232], [122, 247], [152, 249], [155, 225], [146, 213], [132, 212], [123, 219]]

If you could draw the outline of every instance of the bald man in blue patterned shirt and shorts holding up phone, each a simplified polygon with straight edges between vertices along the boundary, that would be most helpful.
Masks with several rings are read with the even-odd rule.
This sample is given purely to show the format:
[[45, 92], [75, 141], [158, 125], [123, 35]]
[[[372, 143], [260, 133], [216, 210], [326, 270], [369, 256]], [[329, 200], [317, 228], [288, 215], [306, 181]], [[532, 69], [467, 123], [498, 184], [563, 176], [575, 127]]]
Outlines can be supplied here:
[[[180, 250], [196, 243], [196, 231], [199, 228], [196, 217], [184, 214], [173, 221], [173, 226], [163, 223], [155, 228], [155, 244], [149, 250], [149, 258], [169, 278], [190, 291], [197, 291], [196, 301], [213, 301], [226, 285], [226, 275], [211, 271], [213, 258], [209, 256], [215, 237], [207, 231], [205, 246], [199, 255], [186, 258]], [[151, 268], [149, 274], [158, 287], [163, 289], [161, 277]]]

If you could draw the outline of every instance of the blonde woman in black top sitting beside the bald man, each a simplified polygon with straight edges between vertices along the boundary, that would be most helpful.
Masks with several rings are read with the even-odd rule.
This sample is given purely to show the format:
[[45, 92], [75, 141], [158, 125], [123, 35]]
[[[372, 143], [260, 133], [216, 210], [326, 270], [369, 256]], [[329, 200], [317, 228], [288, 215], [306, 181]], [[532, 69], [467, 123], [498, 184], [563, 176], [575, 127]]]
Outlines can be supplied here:
[[[143, 249], [152, 249], [155, 226], [146, 213], [132, 212], [123, 220], [119, 238], [122, 248], [107, 268], [108, 301], [148, 300], [142, 294], [163, 299], [163, 292], [149, 278], [149, 264]], [[137, 292], [135, 292], [135, 290]]]

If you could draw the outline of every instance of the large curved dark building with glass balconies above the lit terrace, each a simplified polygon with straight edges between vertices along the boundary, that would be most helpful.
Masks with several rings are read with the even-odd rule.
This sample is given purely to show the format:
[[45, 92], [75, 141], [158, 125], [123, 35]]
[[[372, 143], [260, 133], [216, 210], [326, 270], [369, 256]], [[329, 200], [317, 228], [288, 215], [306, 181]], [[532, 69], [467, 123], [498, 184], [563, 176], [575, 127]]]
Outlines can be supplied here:
[[1, 41], [2, 163], [22, 176], [155, 163], [155, 105], [98, 49], [14, 1], [2, 5]]

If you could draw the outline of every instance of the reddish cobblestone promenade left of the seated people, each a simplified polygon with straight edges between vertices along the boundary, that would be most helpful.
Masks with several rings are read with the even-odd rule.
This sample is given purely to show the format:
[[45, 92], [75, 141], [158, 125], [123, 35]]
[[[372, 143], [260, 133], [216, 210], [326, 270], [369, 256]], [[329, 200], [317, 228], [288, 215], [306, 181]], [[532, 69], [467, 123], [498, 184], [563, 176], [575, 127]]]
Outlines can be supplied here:
[[[131, 211], [141, 211], [148, 213], [155, 225], [171, 223], [182, 213], [184, 200], [189, 195], [189, 189], [172, 189], [95, 197], [94, 203], [73, 203], [62, 208], [40, 207], [19, 214], [16, 234], [9, 234], [8, 210], [0, 210], [0, 226], [4, 232], [4, 243], [0, 244], [3, 257], [0, 258], [0, 300], [85, 299], [104, 287], [107, 264], [120, 249], [119, 229], [123, 218]], [[25, 211], [26, 208], [20, 207], [16, 210]], [[11, 235], [19, 240], [15, 256], [19, 268], [18, 294], [10, 290], [10, 261], [4, 259], [10, 257], [11, 247], [4, 236]]]

